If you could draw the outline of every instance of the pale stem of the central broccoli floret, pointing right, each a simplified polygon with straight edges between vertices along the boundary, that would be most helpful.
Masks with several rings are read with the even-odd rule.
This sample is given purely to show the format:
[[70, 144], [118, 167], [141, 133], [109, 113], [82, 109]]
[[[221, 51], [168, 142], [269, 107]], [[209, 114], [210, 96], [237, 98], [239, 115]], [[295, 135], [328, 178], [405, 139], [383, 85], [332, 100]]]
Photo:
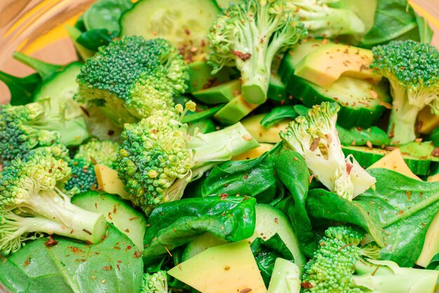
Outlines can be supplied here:
[[198, 133], [188, 144], [188, 148], [195, 151], [192, 170], [211, 163], [229, 161], [255, 147], [259, 147], [259, 143], [239, 122], [205, 135]]

